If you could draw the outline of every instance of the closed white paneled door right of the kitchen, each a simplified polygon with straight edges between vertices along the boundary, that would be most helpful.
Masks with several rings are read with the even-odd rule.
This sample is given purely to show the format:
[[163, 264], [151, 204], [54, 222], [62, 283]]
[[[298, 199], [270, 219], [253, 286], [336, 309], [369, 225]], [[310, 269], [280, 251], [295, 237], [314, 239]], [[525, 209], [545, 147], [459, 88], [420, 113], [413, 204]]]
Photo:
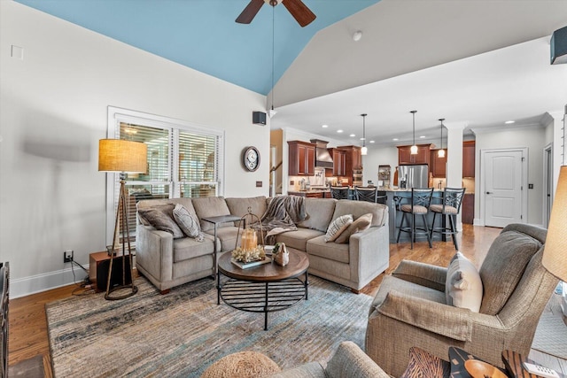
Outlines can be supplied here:
[[523, 151], [485, 151], [485, 226], [504, 228], [523, 220]]

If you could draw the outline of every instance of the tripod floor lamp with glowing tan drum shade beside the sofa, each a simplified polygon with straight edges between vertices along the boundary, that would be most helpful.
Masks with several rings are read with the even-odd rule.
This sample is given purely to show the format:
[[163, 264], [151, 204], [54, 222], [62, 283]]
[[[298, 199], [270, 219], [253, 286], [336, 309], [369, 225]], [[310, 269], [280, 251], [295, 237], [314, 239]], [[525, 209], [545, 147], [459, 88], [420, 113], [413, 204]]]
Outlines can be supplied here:
[[[130, 248], [130, 235], [128, 230], [128, 209], [126, 207], [126, 174], [145, 173], [147, 170], [147, 145], [140, 142], [125, 141], [122, 139], [101, 139], [98, 142], [98, 171], [120, 172], [120, 198], [118, 209], [116, 210], [116, 220], [114, 222], [113, 249], [110, 251], [110, 264], [108, 266], [108, 281], [106, 282], [105, 299], [117, 300], [131, 297], [138, 291], [134, 285], [134, 275], [132, 274], [132, 250]], [[121, 218], [121, 222], [120, 222]], [[115, 286], [111, 286], [113, 277], [113, 260], [117, 238], [122, 235], [122, 274], [121, 281]], [[126, 244], [128, 243], [128, 253]], [[127, 260], [129, 259], [129, 282], [127, 273]], [[120, 294], [123, 293], [123, 294]]]

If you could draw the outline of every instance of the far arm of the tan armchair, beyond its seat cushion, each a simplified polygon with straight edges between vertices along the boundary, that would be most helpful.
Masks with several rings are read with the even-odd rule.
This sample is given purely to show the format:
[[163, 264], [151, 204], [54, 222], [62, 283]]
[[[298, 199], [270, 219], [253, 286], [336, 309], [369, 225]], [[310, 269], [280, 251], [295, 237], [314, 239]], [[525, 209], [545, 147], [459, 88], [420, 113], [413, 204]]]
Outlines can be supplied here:
[[433, 266], [417, 261], [401, 260], [400, 265], [392, 272], [404, 281], [414, 282], [439, 291], [445, 291], [447, 267]]

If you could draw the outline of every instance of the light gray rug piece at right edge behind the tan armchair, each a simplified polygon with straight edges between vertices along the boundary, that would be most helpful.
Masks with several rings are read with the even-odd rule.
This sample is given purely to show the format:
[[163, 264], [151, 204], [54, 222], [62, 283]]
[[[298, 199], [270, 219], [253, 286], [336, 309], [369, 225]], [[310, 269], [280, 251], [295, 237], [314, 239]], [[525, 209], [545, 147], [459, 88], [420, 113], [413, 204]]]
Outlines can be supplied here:
[[567, 359], [567, 326], [560, 314], [544, 311], [533, 336], [532, 349]]

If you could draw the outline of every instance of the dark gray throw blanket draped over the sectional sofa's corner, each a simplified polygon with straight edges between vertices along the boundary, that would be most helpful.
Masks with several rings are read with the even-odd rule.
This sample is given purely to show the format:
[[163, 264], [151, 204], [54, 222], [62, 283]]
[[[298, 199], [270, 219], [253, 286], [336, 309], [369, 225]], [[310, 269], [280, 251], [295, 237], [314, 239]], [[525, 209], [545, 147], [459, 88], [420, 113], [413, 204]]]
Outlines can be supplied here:
[[[296, 224], [306, 218], [305, 197], [273, 197], [268, 210], [260, 219], [261, 228], [264, 231], [264, 243], [276, 243], [276, 235], [298, 229]], [[256, 222], [251, 227], [260, 230], [260, 223]]]

